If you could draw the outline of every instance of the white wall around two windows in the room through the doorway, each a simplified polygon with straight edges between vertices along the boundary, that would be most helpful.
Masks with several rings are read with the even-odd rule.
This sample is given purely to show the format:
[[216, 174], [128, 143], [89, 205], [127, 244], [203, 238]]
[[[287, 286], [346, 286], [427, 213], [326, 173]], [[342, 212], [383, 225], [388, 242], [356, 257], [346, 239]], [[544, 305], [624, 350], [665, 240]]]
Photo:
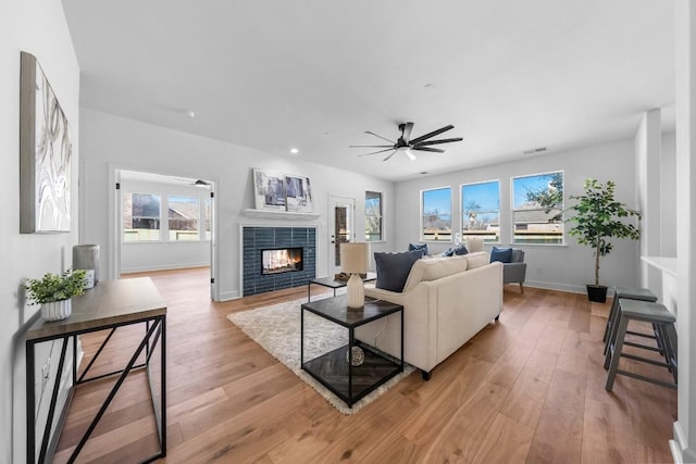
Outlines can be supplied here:
[[[162, 198], [162, 208], [164, 208], [164, 201], [170, 195], [198, 198], [200, 200], [199, 204], [206, 204], [204, 201], [210, 196], [210, 189], [201, 187], [126, 179], [121, 180], [121, 191], [159, 195]], [[164, 214], [164, 217], [166, 217], [166, 214]], [[166, 227], [166, 224], [163, 223], [162, 227]], [[204, 234], [204, 229], [202, 233]], [[167, 235], [166, 230], [163, 230], [162, 234]], [[122, 242], [121, 244], [122, 273], [174, 269], [207, 265], [210, 265], [210, 240], [178, 242], [130, 241]]]

